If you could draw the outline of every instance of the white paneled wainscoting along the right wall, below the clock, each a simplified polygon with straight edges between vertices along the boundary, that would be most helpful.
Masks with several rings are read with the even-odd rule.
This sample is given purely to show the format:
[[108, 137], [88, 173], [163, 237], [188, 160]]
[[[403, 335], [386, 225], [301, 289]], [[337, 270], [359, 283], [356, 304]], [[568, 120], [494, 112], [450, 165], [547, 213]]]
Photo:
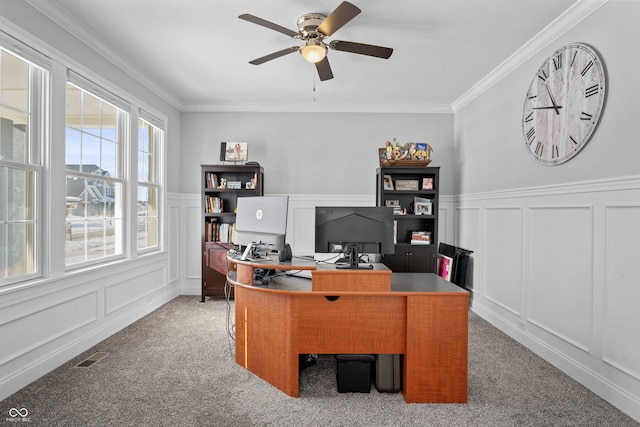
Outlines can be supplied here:
[[640, 176], [461, 195], [456, 212], [472, 310], [640, 419]]

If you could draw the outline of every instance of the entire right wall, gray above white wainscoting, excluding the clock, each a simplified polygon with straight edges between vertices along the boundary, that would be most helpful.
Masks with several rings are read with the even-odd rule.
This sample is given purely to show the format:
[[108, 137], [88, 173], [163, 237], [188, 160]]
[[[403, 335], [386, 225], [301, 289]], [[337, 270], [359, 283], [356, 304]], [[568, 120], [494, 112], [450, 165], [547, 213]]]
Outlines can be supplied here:
[[[637, 111], [640, 3], [613, 1], [455, 115], [456, 233], [475, 251], [473, 309], [640, 419]], [[608, 74], [601, 123], [568, 163], [524, 145], [524, 97], [573, 42]]]

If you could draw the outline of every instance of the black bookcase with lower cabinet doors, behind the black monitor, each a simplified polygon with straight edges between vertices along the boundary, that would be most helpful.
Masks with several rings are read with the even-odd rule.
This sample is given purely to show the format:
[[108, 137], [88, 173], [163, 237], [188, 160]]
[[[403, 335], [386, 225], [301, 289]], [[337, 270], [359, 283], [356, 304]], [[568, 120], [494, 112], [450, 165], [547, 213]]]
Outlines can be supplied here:
[[395, 253], [382, 257], [392, 271], [437, 272], [439, 172], [438, 167], [376, 170], [376, 204], [397, 212]]

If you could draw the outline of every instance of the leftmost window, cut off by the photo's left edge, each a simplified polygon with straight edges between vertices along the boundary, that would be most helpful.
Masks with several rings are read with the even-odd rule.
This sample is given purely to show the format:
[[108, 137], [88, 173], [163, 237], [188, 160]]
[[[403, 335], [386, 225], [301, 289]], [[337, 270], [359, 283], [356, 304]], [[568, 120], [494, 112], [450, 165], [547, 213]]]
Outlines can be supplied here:
[[0, 284], [37, 277], [49, 73], [0, 48]]

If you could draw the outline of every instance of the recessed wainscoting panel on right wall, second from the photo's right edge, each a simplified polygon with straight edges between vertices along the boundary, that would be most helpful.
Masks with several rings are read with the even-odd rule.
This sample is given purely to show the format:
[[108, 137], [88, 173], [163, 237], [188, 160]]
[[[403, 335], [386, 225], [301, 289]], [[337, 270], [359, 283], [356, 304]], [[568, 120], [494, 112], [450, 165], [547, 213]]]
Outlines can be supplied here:
[[529, 211], [528, 321], [589, 351], [593, 220], [587, 206]]

